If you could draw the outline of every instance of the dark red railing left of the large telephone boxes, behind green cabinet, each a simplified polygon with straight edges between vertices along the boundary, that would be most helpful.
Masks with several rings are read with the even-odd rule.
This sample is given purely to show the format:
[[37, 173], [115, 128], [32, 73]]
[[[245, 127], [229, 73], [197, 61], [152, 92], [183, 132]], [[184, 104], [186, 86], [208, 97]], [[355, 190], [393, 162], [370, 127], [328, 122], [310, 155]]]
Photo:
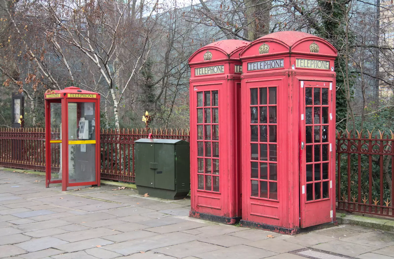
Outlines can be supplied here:
[[[134, 140], [152, 133], [153, 138], [189, 141], [188, 129], [102, 129], [100, 133], [101, 179], [122, 182], [135, 182]], [[58, 134], [52, 129], [52, 139]], [[52, 144], [52, 172], [59, 171], [59, 147]], [[0, 166], [45, 171], [45, 129], [0, 129]]]

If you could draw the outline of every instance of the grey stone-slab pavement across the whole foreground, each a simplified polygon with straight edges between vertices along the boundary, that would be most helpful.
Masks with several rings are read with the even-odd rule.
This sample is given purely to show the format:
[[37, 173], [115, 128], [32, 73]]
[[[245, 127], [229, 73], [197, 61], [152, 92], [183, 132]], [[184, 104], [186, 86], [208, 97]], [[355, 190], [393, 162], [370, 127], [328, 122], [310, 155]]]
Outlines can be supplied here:
[[281, 235], [189, 218], [188, 199], [44, 182], [0, 171], [0, 258], [394, 259], [391, 232], [343, 225]]

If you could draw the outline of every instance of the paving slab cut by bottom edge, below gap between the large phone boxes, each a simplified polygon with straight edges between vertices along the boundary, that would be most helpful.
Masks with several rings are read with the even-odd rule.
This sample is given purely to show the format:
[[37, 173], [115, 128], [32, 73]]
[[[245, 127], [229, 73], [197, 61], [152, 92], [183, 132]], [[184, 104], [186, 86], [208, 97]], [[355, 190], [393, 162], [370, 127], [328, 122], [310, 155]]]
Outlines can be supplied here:
[[245, 246], [243, 244], [237, 246], [231, 246], [228, 248], [222, 248], [219, 250], [214, 250], [206, 253], [199, 253], [195, 255], [196, 257], [202, 259], [260, 259], [276, 255], [277, 253], [268, 250], [256, 248], [253, 246]]

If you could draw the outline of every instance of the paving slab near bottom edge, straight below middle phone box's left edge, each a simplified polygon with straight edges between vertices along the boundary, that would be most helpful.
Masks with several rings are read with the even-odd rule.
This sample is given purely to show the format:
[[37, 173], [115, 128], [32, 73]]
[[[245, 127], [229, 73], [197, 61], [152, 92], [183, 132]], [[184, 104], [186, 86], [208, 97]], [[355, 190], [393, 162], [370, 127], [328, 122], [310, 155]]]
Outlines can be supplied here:
[[163, 253], [165, 255], [171, 255], [177, 258], [183, 258], [198, 253], [210, 252], [214, 250], [222, 249], [223, 247], [215, 244], [208, 244], [200, 241], [191, 241], [183, 244], [176, 244], [174, 246], [166, 246], [162, 248], [154, 249], [154, 252]]

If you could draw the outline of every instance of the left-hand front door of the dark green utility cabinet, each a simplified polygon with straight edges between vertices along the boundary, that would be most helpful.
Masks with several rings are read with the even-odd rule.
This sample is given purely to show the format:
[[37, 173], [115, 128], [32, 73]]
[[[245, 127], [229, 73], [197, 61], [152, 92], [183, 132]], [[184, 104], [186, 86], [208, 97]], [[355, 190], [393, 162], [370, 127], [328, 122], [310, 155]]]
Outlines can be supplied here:
[[136, 143], [135, 144], [135, 172], [136, 185], [155, 187], [154, 169], [154, 144], [153, 143]]

